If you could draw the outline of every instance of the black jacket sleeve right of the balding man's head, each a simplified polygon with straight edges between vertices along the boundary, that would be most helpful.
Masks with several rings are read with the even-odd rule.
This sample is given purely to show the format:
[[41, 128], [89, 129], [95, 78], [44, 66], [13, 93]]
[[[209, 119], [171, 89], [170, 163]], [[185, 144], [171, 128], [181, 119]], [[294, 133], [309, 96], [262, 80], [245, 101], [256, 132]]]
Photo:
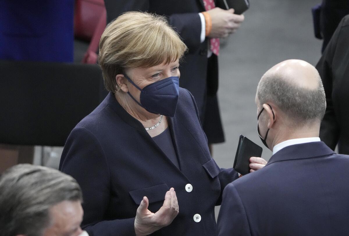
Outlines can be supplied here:
[[316, 69], [319, 71], [320, 77], [322, 79], [322, 84], [324, 85], [327, 103], [326, 113], [320, 127], [320, 139], [321, 141], [324, 141], [326, 145], [329, 146], [332, 150], [334, 150], [337, 145], [340, 132], [332, 100], [332, 63], [342, 25], [343, 21], [341, 21], [341, 23], [337, 27], [333, 37], [331, 38], [324, 51], [324, 54], [316, 65]]

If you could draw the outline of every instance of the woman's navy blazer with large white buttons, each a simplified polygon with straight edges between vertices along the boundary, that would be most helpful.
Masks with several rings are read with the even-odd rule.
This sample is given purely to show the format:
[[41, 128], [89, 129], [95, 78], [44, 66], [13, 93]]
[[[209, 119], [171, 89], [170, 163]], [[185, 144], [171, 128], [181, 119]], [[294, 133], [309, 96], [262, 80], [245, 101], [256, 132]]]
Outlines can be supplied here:
[[[193, 96], [183, 88], [169, 126], [180, 169], [112, 93], [73, 129], [59, 169], [82, 188], [82, 228], [90, 236], [135, 235], [134, 217], [143, 196], [149, 199], [148, 209], [156, 212], [171, 187], [179, 214], [152, 235], [216, 234], [214, 206], [237, 172], [220, 169], [211, 158]], [[192, 192], [185, 191], [187, 184]], [[198, 223], [195, 214], [201, 215]]]

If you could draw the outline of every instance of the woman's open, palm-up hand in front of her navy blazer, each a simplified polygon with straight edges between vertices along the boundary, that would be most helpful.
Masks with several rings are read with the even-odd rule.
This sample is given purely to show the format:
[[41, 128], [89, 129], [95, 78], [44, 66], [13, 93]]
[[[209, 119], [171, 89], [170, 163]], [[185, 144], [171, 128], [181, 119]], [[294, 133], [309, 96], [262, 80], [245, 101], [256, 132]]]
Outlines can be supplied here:
[[148, 206], [149, 200], [144, 196], [137, 209], [134, 221], [134, 230], [137, 236], [149, 235], [162, 227], [168, 226], [179, 213], [174, 188], [170, 188], [170, 191], [166, 192], [164, 204], [156, 213], [150, 212]]

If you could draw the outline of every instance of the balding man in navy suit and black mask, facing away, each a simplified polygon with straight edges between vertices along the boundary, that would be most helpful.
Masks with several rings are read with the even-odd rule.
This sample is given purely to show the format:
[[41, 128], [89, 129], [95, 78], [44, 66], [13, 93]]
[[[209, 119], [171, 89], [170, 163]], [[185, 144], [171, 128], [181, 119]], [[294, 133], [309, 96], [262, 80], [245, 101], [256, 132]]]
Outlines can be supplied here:
[[319, 139], [326, 100], [317, 70], [281, 62], [263, 75], [255, 101], [273, 156], [225, 187], [218, 235], [349, 235], [349, 156]]

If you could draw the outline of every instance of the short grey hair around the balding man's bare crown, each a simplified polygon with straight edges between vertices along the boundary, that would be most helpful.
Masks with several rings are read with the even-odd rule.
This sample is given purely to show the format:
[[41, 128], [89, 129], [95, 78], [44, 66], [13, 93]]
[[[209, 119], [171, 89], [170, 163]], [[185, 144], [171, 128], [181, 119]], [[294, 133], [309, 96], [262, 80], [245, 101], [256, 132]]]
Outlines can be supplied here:
[[268, 72], [262, 77], [257, 87], [260, 105], [274, 102], [284, 112], [292, 124], [304, 125], [321, 121], [326, 110], [326, 97], [320, 75], [317, 74], [318, 86], [309, 89], [297, 86], [279, 75]]

